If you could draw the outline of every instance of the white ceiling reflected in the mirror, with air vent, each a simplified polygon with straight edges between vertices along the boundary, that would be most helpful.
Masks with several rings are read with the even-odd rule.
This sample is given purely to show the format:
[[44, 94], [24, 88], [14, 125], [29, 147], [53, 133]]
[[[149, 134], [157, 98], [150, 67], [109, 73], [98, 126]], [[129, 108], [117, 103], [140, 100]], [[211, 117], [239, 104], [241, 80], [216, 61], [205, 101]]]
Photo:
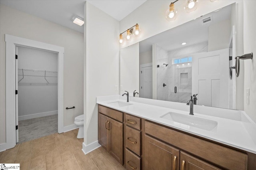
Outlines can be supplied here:
[[[196, 20], [152, 36], [140, 42], [140, 53], [152, 50], [152, 44], [154, 43], [164, 48], [166, 51], [171, 51], [188, 45], [208, 42], [208, 27], [212, 24], [230, 19], [231, 8], [231, 5], [226, 6], [217, 12], [211, 12]], [[212, 22], [202, 25], [202, 19], [209, 16], [212, 16]], [[181, 45], [183, 42], [187, 44]]]

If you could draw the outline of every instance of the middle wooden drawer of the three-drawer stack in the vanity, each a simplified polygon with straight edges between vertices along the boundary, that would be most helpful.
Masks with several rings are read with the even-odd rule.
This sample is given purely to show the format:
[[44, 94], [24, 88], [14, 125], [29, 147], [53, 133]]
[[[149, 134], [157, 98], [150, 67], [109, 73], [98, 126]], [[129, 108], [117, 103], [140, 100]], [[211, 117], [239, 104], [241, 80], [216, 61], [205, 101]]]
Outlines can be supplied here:
[[125, 146], [140, 156], [140, 131], [126, 126]]

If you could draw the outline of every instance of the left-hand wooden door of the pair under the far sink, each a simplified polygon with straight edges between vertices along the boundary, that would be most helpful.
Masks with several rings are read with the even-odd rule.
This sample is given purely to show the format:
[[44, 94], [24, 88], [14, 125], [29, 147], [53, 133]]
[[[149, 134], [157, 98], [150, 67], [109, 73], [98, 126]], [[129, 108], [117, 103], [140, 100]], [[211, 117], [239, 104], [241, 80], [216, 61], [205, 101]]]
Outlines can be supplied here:
[[98, 141], [99, 144], [108, 151], [108, 117], [98, 114]]

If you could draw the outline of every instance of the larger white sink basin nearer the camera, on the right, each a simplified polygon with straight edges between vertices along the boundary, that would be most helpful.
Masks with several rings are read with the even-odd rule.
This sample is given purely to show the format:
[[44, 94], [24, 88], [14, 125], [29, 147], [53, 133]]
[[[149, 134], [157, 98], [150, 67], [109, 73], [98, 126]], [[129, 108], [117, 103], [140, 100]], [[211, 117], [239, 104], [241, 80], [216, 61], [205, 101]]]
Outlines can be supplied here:
[[170, 121], [209, 131], [214, 129], [218, 125], [218, 122], [216, 121], [194, 117], [194, 115], [182, 115], [174, 112], [168, 112], [160, 117], [163, 119], [168, 119]]

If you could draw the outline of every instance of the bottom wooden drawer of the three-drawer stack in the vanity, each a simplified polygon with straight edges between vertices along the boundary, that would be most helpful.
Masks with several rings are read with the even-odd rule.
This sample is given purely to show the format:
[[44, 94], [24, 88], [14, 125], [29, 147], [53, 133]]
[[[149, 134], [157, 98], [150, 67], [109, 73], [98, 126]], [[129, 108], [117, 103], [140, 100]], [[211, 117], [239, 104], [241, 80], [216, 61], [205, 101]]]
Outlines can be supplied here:
[[132, 153], [130, 150], [125, 149], [125, 168], [127, 170], [140, 170], [140, 157]]

